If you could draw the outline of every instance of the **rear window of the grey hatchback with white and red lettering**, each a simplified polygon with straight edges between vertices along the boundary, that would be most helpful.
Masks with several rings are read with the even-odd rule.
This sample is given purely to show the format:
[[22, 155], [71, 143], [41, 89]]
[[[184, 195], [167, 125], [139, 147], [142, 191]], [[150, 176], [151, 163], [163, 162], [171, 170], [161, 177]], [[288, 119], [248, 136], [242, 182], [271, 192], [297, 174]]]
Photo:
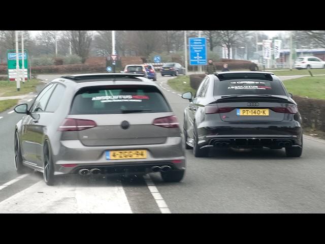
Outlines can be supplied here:
[[154, 86], [95, 86], [81, 89], [70, 114], [119, 114], [171, 112], [164, 96]]

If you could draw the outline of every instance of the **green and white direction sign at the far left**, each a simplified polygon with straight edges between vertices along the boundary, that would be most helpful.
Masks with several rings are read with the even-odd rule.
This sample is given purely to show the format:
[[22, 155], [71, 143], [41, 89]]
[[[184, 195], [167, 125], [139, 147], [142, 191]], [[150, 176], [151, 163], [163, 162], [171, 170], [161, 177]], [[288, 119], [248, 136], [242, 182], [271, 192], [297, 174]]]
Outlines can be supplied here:
[[[25, 70], [25, 77], [24, 79], [28, 79], [28, 52], [25, 49], [24, 55], [22, 54], [21, 50], [18, 53], [18, 64], [19, 64], [19, 74], [18, 77], [23, 79], [23, 72], [22, 72], [22, 60], [24, 60], [24, 70]], [[7, 51], [7, 64], [8, 64], [8, 78], [10, 81], [14, 81], [17, 78], [17, 71], [16, 71], [16, 50], [8, 50]], [[30, 78], [30, 77], [29, 77]]]

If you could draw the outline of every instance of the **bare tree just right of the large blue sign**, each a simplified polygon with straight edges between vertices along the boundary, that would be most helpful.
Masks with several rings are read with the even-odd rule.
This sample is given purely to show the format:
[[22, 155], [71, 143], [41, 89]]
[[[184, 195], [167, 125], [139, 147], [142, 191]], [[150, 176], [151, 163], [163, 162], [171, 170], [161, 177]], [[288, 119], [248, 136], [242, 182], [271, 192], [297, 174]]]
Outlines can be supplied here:
[[230, 58], [230, 48], [241, 42], [250, 35], [247, 31], [218, 31], [220, 44], [228, 49], [228, 58]]

